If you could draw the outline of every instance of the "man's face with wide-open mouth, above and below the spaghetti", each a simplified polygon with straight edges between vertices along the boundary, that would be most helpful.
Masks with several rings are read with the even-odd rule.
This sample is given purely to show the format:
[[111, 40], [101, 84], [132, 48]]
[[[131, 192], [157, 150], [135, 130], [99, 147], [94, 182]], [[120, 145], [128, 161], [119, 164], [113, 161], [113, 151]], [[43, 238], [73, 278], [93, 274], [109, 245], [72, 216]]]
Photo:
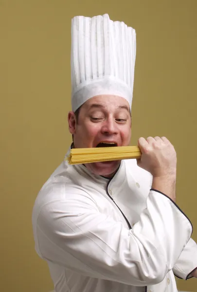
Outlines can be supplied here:
[[[75, 148], [129, 145], [131, 117], [129, 104], [123, 97], [92, 97], [80, 108], [78, 121], [71, 111], [68, 122]], [[112, 161], [90, 163], [86, 167], [94, 174], [110, 178], [119, 165], [120, 161]]]

